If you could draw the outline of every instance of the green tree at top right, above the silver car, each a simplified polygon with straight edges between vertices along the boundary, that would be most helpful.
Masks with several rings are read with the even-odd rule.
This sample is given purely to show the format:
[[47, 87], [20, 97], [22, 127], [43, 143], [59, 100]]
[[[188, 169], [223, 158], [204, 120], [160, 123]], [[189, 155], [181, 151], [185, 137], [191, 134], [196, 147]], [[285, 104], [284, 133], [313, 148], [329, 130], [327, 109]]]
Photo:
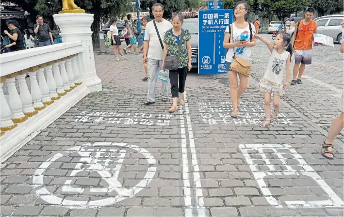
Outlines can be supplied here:
[[339, 14], [343, 9], [343, 0], [311, 0], [311, 6], [319, 13], [319, 16]]

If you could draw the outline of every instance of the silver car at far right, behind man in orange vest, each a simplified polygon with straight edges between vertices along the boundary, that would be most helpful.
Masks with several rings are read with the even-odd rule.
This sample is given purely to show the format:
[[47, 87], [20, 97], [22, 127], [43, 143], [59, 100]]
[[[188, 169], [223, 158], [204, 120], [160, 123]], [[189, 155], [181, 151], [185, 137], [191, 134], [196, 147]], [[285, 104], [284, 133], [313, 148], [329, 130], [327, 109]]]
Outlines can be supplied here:
[[338, 43], [343, 34], [343, 28], [341, 26], [343, 20], [344, 15], [327, 15], [314, 19], [318, 23], [318, 33], [332, 37], [333, 41]]

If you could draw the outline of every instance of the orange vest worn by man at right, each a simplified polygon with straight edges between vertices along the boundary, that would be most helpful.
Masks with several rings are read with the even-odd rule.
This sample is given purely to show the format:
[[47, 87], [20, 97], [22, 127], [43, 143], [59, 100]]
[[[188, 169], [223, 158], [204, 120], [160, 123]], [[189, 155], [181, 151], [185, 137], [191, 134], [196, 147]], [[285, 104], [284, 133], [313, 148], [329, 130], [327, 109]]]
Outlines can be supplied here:
[[[300, 25], [298, 26], [298, 32], [296, 35], [296, 40], [294, 43], [295, 50], [310, 50], [312, 48], [315, 26], [316, 22], [314, 20], [311, 20], [311, 22], [308, 25], [305, 25], [303, 23], [303, 20], [300, 21]], [[297, 28], [297, 24], [295, 28]]]

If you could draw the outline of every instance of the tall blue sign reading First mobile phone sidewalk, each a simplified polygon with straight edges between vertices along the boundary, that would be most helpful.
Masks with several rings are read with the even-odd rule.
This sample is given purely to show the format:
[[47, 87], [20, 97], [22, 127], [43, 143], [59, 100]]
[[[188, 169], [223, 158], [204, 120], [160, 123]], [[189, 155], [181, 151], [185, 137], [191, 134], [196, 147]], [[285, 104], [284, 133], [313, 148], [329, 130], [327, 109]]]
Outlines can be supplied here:
[[233, 10], [198, 11], [198, 74], [227, 73], [223, 38], [232, 22]]

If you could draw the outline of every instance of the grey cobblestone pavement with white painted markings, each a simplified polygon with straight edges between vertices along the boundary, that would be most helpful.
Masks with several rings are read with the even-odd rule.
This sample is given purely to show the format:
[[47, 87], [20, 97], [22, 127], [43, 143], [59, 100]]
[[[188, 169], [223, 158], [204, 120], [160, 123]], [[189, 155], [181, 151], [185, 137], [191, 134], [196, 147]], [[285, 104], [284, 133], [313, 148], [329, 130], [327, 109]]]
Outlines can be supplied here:
[[[271, 35], [266, 35], [271, 37]], [[110, 49], [108, 50], [110, 51]], [[315, 47], [277, 123], [259, 127], [268, 49], [253, 47], [238, 119], [227, 75], [187, 77], [185, 106], [144, 106], [142, 55], [97, 55], [86, 96], [1, 166], [1, 216], [343, 216], [343, 136], [320, 145], [343, 89], [339, 45]], [[293, 64], [292, 64], [293, 65]]]

